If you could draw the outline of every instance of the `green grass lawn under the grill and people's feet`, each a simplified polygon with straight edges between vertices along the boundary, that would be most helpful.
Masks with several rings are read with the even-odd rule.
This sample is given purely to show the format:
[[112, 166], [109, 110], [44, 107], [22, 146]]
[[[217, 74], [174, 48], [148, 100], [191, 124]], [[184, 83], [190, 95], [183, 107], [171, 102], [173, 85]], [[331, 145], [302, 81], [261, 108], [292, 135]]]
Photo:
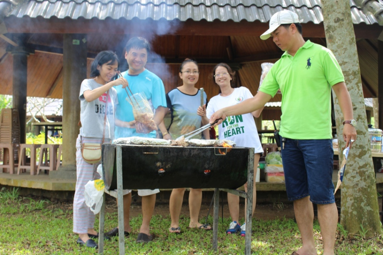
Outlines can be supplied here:
[[[97, 254], [97, 250], [79, 247], [77, 235], [72, 232], [73, 211], [70, 204], [53, 204], [47, 200], [21, 197], [16, 189], [0, 191], [0, 254]], [[96, 218], [98, 225], [98, 217]], [[212, 231], [188, 229], [189, 219], [182, 216], [183, 233], [170, 234], [170, 217], [155, 215], [151, 222], [154, 236], [149, 244], [137, 244], [135, 239], [142, 218], [131, 219], [132, 235], [125, 239], [126, 254], [242, 254], [245, 239], [239, 235], [226, 235], [229, 219], [219, 222], [218, 253], [212, 246]], [[212, 218], [208, 219], [212, 223]], [[107, 213], [105, 228], [117, 225], [117, 213]], [[97, 229], [97, 227], [96, 227]], [[253, 254], [291, 254], [301, 245], [297, 224], [292, 219], [253, 220]], [[314, 223], [318, 251], [323, 244], [318, 222]], [[118, 254], [118, 237], [105, 241], [104, 254]], [[383, 238], [347, 238], [347, 231], [338, 225], [336, 254], [383, 254]]]

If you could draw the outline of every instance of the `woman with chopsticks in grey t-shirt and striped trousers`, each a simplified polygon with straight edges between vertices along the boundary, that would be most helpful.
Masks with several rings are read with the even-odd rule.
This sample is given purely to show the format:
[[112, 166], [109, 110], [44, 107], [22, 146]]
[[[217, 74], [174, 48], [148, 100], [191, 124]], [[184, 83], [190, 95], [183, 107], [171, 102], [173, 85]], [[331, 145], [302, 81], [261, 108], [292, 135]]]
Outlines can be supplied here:
[[[114, 137], [114, 106], [118, 103], [113, 86], [128, 86], [124, 78], [111, 81], [118, 70], [118, 57], [111, 51], [100, 52], [92, 62], [90, 77], [80, 87], [80, 134], [76, 141], [77, 181], [73, 201], [73, 231], [79, 235], [77, 244], [97, 248], [91, 238], [98, 238], [94, 230], [94, 214], [85, 204], [85, 184], [89, 180], [100, 179], [97, 167], [100, 163], [89, 164], [81, 154], [83, 143], [102, 143], [105, 128], [105, 141]], [[106, 119], [105, 119], [106, 114]]]

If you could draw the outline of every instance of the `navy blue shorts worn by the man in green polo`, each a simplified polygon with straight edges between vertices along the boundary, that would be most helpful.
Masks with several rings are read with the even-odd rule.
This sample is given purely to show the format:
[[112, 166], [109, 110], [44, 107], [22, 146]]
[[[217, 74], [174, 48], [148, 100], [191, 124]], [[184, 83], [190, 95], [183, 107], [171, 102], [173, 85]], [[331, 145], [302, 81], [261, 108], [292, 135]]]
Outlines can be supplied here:
[[284, 148], [281, 142], [281, 156], [289, 200], [310, 196], [316, 204], [334, 203], [331, 139], [285, 140]]

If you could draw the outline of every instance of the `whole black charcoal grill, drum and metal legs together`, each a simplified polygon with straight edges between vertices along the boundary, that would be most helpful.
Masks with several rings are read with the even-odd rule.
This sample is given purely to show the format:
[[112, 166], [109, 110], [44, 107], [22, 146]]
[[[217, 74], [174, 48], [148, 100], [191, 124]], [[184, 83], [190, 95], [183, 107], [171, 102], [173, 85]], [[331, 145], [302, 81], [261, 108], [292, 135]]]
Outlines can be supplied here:
[[[118, 199], [119, 254], [125, 254], [123, 189], [215, 188], [213, 249], [218, 248], [219, 191], [248, 199], [245, 254], [250, 254], [253, 197], [253, 148], [103, 144], [103, 177]], [[248, 192], [235, 190], [248, 182]], [[114, 190], [117, 190], [116, 192]], [[105, 195], [104, 195], [105, 203]], [[104, 210], [100, 212], [99, 253], [104, 248]]]

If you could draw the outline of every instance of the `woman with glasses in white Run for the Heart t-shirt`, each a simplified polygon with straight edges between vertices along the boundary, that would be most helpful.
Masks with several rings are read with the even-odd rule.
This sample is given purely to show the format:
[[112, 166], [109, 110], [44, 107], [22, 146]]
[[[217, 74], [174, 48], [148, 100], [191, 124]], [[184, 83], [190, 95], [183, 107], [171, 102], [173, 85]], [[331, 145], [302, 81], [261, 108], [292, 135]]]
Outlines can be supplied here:
[[[235, 84], [235, 72], [233, 72], [229, 65], [225, 63], [220, 63], [214, 67], [212, 78], [213, 81], [220, 86], [220, 94], [210, 99], [207, 109], [205, 109], [205, 107], [198, 108], [197, 113], [202, 116], [204, 124], [209, 122], [210, 116], [217, 110], [241, 103], [242, 101], [253, 97], [248, 88], [233, 87]], [[256, 176], [257, 173], [259, 157], [261, 153], [264, 152], [259, 141], [254, 121], [254, 117], [258, 118], [262, 109], [256, 110], [252, 113], [227, 117], [226, 120], [218, 126], [220, 140], [226, 139], [234, 141], [238, 147], [254, 148], [254, 176]], [[245, 191], [247, 191], [247, 183], [245, 184]], [[245, 223], [241, 226], [238, 221], [240, 217], [240, 197], [227, 193], [227, 201], [229, 204], [232, 222], [230, 223], [229, 229], [226, 230], [226, 233], [234, 234], [240, 232], [241, 236], [245, 236]], [[253, 213], [255, 210], [255, 203], [256, 190], [254, 178]]]

